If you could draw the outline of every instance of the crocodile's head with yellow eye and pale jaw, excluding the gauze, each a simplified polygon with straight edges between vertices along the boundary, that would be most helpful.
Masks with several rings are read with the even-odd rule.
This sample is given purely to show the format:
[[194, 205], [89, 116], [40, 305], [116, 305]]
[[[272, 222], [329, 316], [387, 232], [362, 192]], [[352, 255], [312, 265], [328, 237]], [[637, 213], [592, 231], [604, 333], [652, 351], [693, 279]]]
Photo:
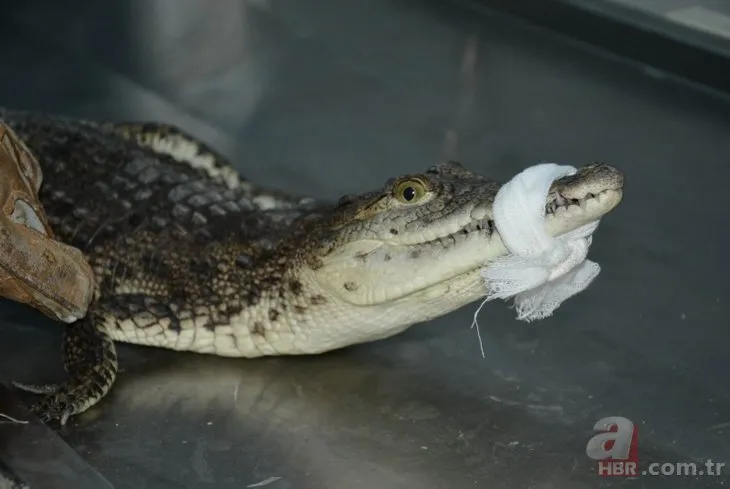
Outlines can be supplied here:
[[[478, 300], [487, 292], [479, 270], [507, 253], [492, 220], [500, 187], [448, 162], [344, 197], [309, 235], [317, 250], [307, 278], [342, 308], [379, 322], [373, 327], [384, 335]], [[556, 236], [600, 219], [621, 201], [622, 187], [623, 175], [605, 164], [556, 180], [546, 231]]]

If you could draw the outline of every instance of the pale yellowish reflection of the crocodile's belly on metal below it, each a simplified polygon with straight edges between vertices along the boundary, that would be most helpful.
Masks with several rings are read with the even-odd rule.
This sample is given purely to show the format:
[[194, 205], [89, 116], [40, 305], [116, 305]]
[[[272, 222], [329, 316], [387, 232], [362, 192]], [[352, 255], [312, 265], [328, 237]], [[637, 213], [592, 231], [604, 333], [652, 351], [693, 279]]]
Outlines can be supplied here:
[[[235, 474], [239, 487], [442, 487], [459, 456], [435, 447], [435, 437], [401, 438], [412, 436], [414, 424], [435, 434], [449, 422], [438, 407], [397, 393], [403, 374], [383, 382], [387, 372], [373, 366], [343, 355], [236, 361], [181, 354], [120, 379], [114, 403], [125, 406], [124, 417], [102, 431], [142, 422], [152, 441], [157, 423], [185, 419], [184, 430], [166, 425], [156, 443], [176, 451], [193, 445], [180, 463], [214, 485], [226, 482], [223, 472]], [[210, 465], [213, 453], [226, 469]], [[258, 460], [254, 470], [240, 470], [251, 467], [248, 460]], [[269, 463], [280, 460], [286, 464]]]

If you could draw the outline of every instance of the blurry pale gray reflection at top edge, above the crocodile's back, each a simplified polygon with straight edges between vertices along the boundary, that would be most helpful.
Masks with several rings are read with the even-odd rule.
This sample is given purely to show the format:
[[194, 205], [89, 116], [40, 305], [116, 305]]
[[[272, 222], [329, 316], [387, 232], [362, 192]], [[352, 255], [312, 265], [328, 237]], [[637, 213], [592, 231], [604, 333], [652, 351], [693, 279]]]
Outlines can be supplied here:
[[244, 124], [266, 81], [250, 28], [250, 17], [265, 3], [136, 0], [131, 5], [131, 37], [145, 74], [177, 103], [224, 124]]

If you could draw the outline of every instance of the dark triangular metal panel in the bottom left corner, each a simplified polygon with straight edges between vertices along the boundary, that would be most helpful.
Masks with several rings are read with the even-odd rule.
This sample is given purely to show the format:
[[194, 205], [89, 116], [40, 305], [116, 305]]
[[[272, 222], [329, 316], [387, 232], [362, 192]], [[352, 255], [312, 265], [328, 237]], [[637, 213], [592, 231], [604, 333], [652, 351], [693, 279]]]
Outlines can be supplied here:
[[9, 475], [17, 477], [31, 489], [113, 487], [2, 385], [0, 412], [22, 421], [3, 422], [6, 419], [0, 419], [0, 460]]

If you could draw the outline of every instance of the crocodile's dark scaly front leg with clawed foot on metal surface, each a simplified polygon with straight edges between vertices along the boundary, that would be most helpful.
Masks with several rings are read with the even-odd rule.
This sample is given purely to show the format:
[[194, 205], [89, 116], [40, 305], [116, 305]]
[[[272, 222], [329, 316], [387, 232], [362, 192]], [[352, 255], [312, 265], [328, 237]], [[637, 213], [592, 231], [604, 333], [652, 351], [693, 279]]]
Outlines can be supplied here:
[[30, 385], [14, 382], [28, 392], [44, 397], [31, 411], [44, 422], [57, 419], [65, 425], [71, 416], [83, 413], [111, 389], [117, 376], [117, 353], [100, 316], [89, 313], [66, 328], [63, 364], [67, 379], [62, 384]]

